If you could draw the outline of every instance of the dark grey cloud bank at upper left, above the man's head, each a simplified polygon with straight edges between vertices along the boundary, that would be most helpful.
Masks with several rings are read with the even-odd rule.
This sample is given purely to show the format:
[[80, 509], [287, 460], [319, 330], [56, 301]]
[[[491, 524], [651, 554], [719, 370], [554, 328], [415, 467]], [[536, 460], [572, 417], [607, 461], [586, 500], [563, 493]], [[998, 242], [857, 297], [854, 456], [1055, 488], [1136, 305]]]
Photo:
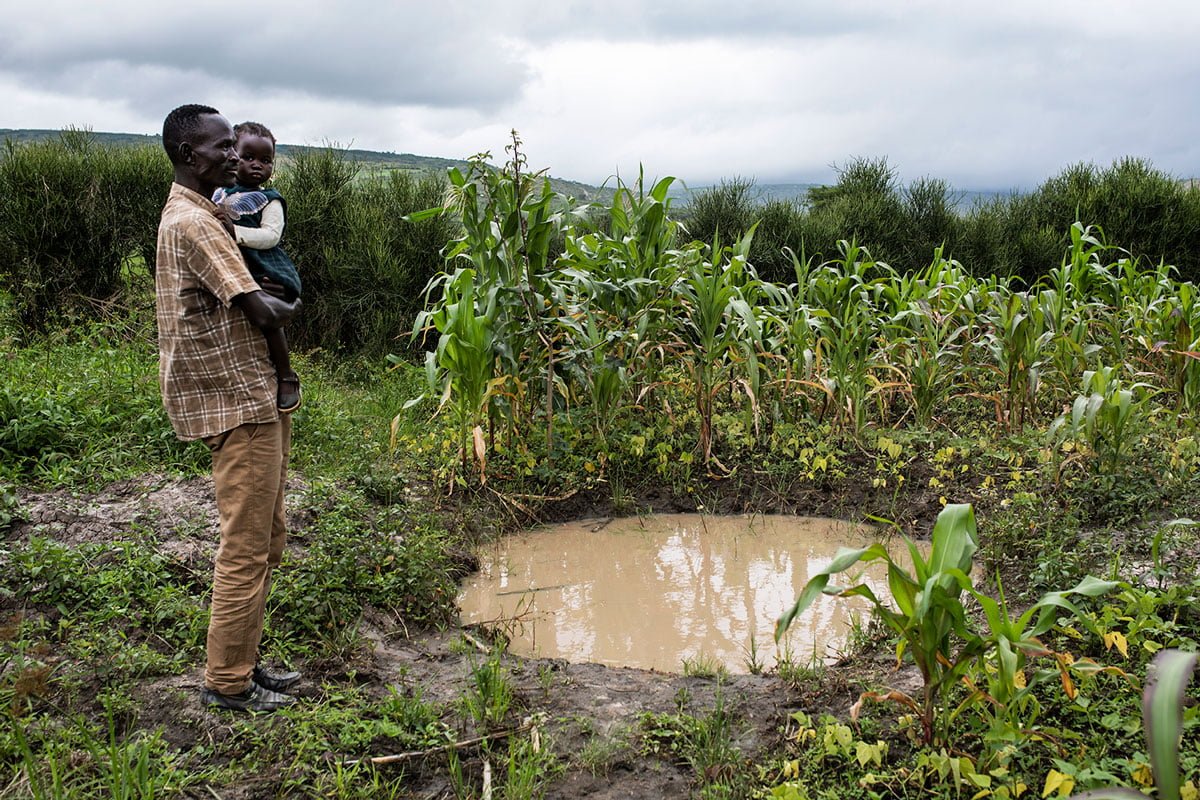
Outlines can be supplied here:
[[[74, 74], [101, 65], [112, 72], [115, 64], [130, 74], [172, 68], [264, 91], [373, 104], [490, 109], [511, 101], [527, 67], [486, 29], [464, 26], [452, 5], [422, 16], [397, 5], [348, 2], [269, 19], [253, 6], [228, 14], [140, 14], [134, 5], [114, 7], [108, 20], [65, 13], [50, 30], [36, 17], [13, 14], [0, 32], [0, 70], [59, 90]], [[96, 22], [103, 22], [102, 32]], [[104, 86], [89, 86], [97, 91]]]

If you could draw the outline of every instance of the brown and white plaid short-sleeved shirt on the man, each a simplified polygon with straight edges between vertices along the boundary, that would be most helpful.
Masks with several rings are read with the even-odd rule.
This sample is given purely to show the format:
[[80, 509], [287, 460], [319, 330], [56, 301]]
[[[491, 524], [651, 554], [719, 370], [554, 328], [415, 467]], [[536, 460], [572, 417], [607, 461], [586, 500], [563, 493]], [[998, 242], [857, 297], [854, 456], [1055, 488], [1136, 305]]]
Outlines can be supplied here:
[[259, 285], [215, 209], [172, 184], [158, 224], [158, 385], [175, 434], [185, 440], [278, 419], [266, 339], [232, 305]]

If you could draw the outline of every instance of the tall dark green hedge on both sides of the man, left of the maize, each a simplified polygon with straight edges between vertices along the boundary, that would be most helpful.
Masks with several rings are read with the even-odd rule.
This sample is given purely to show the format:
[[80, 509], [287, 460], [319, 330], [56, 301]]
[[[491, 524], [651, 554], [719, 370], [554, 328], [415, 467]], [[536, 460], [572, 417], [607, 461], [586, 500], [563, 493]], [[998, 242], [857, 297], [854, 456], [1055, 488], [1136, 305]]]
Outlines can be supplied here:
[[[152, 287], [158, 218], [172, 169], [157, 148], [97, 144], [84, 131], [0, 151], [0, 295], [22, 329], [47, 331]], [[421, 307], [454, 234], [446, 218], [406, 222], [438, 205], [446, 182], [407, 172], [362, 175], [344, 152], [302, 151], [281, 166], [283, 246], [305, 283], [292, 329], [300, 349], [380, 355]]]

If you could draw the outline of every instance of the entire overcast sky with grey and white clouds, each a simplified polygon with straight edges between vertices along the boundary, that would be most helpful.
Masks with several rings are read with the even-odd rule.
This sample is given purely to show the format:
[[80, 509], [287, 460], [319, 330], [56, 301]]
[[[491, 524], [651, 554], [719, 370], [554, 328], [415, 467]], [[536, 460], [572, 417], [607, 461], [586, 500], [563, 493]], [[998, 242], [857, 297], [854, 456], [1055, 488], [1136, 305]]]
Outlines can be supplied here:
[[4, 0], [0, 127], [157, 133], [185, 102], [280, 140], [532, 167], [1032, 187], [1200, 175], [1195, 0]]

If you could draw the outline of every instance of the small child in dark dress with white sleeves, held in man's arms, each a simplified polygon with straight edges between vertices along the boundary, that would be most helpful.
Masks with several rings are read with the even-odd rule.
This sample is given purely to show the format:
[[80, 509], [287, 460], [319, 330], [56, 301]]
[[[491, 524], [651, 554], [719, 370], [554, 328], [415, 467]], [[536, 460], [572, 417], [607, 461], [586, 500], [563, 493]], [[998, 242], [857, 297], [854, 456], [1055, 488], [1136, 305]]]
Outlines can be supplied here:
[[[226, 222], [226, 229], [241, 247], [242, 257], [251, 276], [259, 285], [271, 282], [282, 287], [283, 300], [288, 302], [300, 296], [300, 273], [295, 264], [280, 247], [283, 235], [284, 203], [283, 197], [272, 188], [264, 188], [275, 172], [275, 134], [265, 125], [242, 122], [234, 126], [238, 136], [238, 184], [226, 190], [226, 196], [238, 192], [262, 192], [269, 203], [257, 213], [242, 215], [228, 223], [226, 215], [218, 216]], [[275, 287], [272, 287], [275, 289]], [[300, 408], [300, 378], [292, 369], [288, 356], [288, 342], [283, 329], [264, 331], [266, 348], [275, 365], [278, 380], [276, 402], [280, 411], [290, 414]]]

